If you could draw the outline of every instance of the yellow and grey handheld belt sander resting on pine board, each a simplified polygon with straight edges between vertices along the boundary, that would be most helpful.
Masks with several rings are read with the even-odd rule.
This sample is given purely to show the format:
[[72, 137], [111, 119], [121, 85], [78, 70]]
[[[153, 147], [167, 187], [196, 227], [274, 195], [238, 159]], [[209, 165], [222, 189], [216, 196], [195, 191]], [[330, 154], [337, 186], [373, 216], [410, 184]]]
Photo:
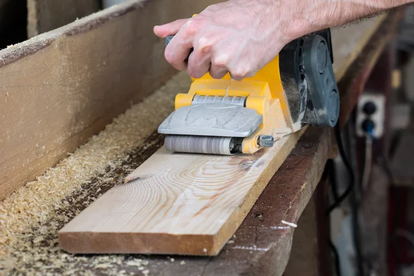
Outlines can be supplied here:
[[166, 150], [253, 154], [306, 124], [335, 126], [339, 94], [332, 64], [328, 29], [291, 41], [254, 77], [193, 78], [158, 128]]

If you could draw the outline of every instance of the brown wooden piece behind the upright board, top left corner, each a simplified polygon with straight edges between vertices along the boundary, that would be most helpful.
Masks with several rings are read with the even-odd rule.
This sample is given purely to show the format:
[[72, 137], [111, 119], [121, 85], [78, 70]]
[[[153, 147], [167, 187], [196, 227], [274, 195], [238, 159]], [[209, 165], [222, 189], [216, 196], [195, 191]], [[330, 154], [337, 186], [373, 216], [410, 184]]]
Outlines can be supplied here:
[[99, 0], [27, 0], [28, 37], [64, 26], [100, 8]]

